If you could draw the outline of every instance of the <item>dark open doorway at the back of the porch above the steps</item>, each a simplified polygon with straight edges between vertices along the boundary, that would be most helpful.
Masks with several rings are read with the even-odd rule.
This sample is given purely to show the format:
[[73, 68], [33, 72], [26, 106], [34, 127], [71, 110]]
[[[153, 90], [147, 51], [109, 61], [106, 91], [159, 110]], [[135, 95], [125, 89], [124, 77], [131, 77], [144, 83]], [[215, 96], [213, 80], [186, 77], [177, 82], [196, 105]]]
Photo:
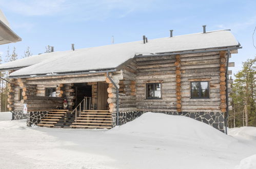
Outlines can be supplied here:
[[87, 83], [74, 83], [75, 89], [75, 107], [78, 105], [84, 97], [92, 97], [91, 86]]

